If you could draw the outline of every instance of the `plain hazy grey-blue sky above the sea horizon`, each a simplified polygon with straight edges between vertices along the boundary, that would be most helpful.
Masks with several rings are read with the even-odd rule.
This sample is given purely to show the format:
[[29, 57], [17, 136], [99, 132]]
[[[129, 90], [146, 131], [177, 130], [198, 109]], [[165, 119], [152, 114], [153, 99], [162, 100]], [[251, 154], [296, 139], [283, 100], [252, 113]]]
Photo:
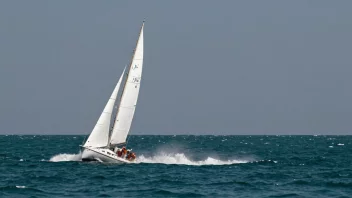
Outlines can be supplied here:
[[89, 134], [143, 20], [131, 134], [352, 135], [352, 1], [0, 1], [0, 134]]

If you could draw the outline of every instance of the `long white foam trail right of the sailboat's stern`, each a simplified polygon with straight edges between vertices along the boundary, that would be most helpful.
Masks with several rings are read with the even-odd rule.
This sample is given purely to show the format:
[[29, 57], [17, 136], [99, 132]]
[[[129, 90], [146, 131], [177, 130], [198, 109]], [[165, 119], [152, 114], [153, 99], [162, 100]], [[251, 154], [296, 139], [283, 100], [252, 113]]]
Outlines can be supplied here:
[[152, 164], [182, 164], [182, 165], [228, 165], [228, 164], [239, 164], [248, 163], [248, 160], [219, 160], [212, 157], [208, 157], [205, 160], [194, 161], [190, 160], [183, 153], [167, 154], [159, 153], [152, 157], [144, 157], [143, 155], [137, 157], [136, 163], [152, 163]]

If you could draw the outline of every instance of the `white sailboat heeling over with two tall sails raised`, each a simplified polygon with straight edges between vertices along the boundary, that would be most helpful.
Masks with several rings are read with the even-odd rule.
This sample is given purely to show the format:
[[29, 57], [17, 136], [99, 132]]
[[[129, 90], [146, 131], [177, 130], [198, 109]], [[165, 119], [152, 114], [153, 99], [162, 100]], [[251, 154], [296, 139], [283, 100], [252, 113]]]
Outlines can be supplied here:
[[[82, 161], [131, 162], [126, 156], [118, 155], [117, 151], [127, 144], [136, 109], [143, 68], [143, 28], [144, 21], [130, 65], [123, 70], [98, 122], [81, 146]], [[116, 115], [112, 119], [115, 105]]]

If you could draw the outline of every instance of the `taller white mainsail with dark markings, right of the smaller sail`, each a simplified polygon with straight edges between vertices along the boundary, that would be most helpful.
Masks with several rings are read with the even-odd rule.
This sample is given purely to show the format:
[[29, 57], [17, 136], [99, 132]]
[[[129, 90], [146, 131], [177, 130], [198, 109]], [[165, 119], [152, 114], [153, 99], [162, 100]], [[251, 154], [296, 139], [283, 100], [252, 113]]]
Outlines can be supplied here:
[[141, 27], [137, 46], [129, 68], [127, 80], [121, 96], [120, 106], [117, 112], [115, 124], [110, 137], [113, 145], [126, 142], [131, 128], [134, 111], [136, 109], [143, 67], [143, 28]]

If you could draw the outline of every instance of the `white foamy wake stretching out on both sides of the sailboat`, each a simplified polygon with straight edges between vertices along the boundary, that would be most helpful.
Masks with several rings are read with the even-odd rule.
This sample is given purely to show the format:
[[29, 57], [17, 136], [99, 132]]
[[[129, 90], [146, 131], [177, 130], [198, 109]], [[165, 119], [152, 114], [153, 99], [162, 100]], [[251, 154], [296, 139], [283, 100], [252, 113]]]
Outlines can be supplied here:
[[[78, 154], [58, 154], [50, 158], [50, 162], [67, 162], [67, 161], [81, 161], [82, 155]], [[144, 155], [138, 156], [134, 163], [146, 163], [146, 164], [178, 164], [178, 165], [191, 165], [191, 166], [202, 166], [202, 165], [230, 165], [230, 164], [241, 164], [248, 163], [250, 160], [219, 160], [212, 157], [207, 157], [205, 160], [191, 160], [184, 153], [158, 153], [151, 157], [145, 157]]]

